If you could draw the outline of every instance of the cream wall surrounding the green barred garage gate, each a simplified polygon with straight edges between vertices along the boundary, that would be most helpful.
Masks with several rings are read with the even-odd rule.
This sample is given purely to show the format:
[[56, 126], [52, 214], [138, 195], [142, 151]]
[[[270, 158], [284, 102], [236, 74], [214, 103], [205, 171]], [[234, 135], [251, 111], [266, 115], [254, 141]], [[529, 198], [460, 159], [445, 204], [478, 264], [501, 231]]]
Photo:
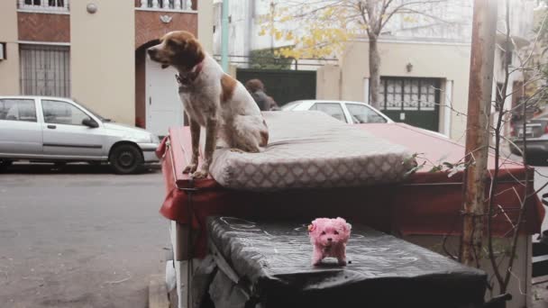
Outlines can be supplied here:
[[[467, 112], [470, 45], [381, 41], [379, 51], [380, 76], [434, 77], [452, 81], [452, 95], [447, 95], [444, 91], [441, 95], [439, 130], [444, 131], [444, 119], [448, 118], [451, 127], [450, 137], [453, 140], [464, 141], [466, 117], [444, 105], [451, 103], [452, 109], [460, 113]], [[342, 58], [341, 99], [365, 100], [363, 79], [370, 77], [368, 59], [368, 41], [355, 41], [349, 44]], [[407, 63], [413, 64], [411, 72], [406, 71]], [[442, 90], [444, 87], [442, 86]], [[446, 112], [451, 113], [451, 116], [446, 117]]]

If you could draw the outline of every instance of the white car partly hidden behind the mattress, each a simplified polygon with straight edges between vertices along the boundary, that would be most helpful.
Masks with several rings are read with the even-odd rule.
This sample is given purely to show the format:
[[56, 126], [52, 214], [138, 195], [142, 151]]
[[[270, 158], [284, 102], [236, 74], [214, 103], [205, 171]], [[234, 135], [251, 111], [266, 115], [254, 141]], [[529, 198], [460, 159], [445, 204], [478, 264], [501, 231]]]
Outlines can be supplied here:
[[318, 110], [333, 116], [337, 120], [353, 124], [393, 122], [388, 116], [369, 104], [351, 101], [302, 100], [285, 104], [281, 107], [281, 110]]

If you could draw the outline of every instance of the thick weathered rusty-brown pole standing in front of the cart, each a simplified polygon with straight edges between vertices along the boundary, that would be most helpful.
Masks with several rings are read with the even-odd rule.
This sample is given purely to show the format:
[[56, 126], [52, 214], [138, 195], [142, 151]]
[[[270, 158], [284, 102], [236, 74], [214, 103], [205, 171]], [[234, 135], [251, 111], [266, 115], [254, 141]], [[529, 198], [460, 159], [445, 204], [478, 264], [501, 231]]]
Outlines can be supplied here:
[[470, 164], [464, 175], [459, 256], [462, 263], [470, 266], [478, 265], [482, 254], [497, 2], [498, 0], [474, 0], [465, 150], [466, 161]]

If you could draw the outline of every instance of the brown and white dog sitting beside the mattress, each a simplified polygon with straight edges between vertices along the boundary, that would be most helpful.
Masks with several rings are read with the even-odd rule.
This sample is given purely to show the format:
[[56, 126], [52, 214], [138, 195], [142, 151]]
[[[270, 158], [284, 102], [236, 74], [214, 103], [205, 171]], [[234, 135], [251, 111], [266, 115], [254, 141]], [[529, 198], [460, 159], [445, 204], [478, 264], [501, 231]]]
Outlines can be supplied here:
[[[244, 86], [224, 73], [203, 50], [194, 35], [169, 32], [148, 54], [162, 68], [178, 70], [178, 93], [190, 121], [192, 161], [185, 168], [191, 177], [207, 177], [218, 136], [232, 149], [259, 152], [266, 147], [269, 131], [259, 107]], [[205, 153], [196, 171], [200, 127], [205, 128]]]

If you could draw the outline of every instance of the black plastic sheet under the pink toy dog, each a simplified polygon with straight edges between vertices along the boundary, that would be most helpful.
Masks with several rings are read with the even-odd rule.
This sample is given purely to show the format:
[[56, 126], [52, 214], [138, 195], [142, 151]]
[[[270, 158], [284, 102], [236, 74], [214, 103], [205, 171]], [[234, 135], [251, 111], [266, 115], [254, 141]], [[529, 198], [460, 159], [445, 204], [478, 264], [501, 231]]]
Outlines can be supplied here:
[[[262, 307], [451, 308], [483, 303], [484, 272], [360, 225], [352, 226], [347, 266], [326, 258], [321, 267], [313, 267], [306, 227], [210, 218], [210, 245], [218, 251], [217, 260], [223, 260], [217, 265], [225, 263], [220, 267], [224, 279], [214, 279], [224, 282], [210, 286], [210, 292], [237, 289], [237, 297], [245, 298], [248, 306], [256, 302]], [[227, 272], [237, 278], [228, 279]], [[215, 301], [217, 308], [228, 303], [228, 297]]]

